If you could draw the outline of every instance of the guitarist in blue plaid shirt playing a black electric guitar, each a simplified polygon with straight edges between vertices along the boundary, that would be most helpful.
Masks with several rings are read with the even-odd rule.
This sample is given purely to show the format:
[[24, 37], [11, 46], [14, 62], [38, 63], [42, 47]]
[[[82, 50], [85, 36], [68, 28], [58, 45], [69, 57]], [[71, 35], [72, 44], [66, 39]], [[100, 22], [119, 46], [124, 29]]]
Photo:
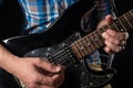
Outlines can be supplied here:
[[[22, 32], [27, 32], [28, 34], [44, 32], [63, 10], [76, 1], [79, 0], [19, 0], [25, 15], [25, 26], [23, 26]], [[96, 19], [99, 20], [98, 28], [100, 28], [112, 22], [114, 15], [112, 4], [109, 0], [98, 0], [98, 2]], [[43, 25], [35, 26], [41, 23], [43, 23]], [[25, 31], [32, 26], [35, 28]], [[103, 50], [112, 55], [123, 50], [129, 34], [109, 29], [102, 36], [105, 38]], [[91, 56], [93, 57], [93, 54]], [[42, 62], [39, 57], [16, 56], [10, 53], [2, 43], [0, 44], [0, 67], [17, 76], [28, 88], [58, 88], [65, 80], [64, 67], [50, 64], [48, 61]]]

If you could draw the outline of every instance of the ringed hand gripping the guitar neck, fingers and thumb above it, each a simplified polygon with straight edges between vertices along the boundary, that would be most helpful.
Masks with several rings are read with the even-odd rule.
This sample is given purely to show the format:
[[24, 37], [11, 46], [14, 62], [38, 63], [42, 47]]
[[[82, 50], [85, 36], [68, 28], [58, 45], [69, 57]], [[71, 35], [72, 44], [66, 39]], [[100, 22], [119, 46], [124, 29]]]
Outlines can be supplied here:
[[[113, 18], [112, 15], [106, 15], [104, 20], [99, 23], [99, 26], [102, 26], [106, 23], [112, 23]], [[126, 40], [129, 38], [127, 32], [115, 32], [113, 29], [108, 29], [102, 34], [105, 44], [104, 51], [109, 54], [114, 54], [124, 48], [126, 45]]]

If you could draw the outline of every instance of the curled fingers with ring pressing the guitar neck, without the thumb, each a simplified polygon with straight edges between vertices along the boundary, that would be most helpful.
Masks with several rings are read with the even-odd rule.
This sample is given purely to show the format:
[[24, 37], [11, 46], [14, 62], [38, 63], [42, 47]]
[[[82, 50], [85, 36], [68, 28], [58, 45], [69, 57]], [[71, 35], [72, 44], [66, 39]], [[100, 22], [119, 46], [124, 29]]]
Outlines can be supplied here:
[[108, 30], [102, 34], [102, 36], [105, 38], [104, 43], [106, 45], [104, 51], [106, 53], [113, 54], [125, 48], [129, 34], [126, 32], [119, 33], [112, 30]]

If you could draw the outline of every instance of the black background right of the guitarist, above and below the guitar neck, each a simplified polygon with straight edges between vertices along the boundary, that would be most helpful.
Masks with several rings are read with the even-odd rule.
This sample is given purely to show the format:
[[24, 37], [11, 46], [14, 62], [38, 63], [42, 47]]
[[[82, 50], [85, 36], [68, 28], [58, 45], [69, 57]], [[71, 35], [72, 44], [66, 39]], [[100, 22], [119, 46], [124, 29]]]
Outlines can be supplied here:
[[[133, 9], [133, 0], [115, 0], [117, 16]], [[113, 88], [133, 88], [133, 29], [129, 32], [126, 48], [115, 55], [113, 67], [117, 70]]]

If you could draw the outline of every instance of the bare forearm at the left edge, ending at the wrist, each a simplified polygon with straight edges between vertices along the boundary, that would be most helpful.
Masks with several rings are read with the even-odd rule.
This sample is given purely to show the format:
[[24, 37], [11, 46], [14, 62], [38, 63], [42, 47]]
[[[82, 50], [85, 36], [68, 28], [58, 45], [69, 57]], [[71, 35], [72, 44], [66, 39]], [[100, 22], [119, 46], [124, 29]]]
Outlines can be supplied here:
[[9, 73], [13, 73], [17, 65], [18, 56], [11, 54], [3, 45], [0, 44], [0, 67]]

